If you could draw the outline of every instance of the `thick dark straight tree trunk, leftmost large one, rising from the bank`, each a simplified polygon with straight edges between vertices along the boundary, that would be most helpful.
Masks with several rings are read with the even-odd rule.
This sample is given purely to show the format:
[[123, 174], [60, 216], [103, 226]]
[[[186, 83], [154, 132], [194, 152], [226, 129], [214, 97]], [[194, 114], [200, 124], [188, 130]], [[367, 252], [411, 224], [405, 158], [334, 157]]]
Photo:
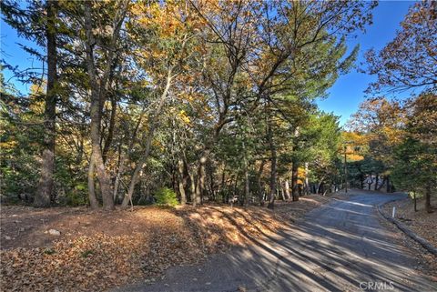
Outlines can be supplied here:
[[50, 206], [53, 196], [55, 172], [55, 120], [56, 120], [56, 1], [46, 2], [47, 23], [47, 88], [45, 105], [44, 150], [41, 157], [41, 173], [34, 206]]

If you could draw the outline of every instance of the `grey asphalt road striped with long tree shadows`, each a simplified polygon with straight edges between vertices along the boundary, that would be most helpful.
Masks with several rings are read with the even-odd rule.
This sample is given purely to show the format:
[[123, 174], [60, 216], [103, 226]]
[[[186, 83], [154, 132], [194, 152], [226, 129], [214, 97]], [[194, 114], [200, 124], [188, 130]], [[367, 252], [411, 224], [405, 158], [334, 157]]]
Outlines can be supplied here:
[[172, 267], [153, 285], [114, 291], [437, 291], [380, 225], [374, 206], [397, 196], [366, 194], [311, 211], [296, 227], [203, 264]]

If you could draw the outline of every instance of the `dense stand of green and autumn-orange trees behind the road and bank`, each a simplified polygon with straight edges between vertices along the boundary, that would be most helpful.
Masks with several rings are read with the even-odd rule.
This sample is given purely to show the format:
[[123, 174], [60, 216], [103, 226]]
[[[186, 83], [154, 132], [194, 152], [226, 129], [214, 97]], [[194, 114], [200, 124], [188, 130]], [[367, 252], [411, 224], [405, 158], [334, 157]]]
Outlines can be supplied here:
[[[437, 2], [356, 64], [372, 2], [2, 1], [42, 68], [2, 68], [2, 201], [274, 207], [345, 187], [437, 188]], [[413, 49], [412, 49], [413, 48]], [[377, 77], [351, 122], [340, 75]], [[397, 93], [411, 92], [407, 99]]]

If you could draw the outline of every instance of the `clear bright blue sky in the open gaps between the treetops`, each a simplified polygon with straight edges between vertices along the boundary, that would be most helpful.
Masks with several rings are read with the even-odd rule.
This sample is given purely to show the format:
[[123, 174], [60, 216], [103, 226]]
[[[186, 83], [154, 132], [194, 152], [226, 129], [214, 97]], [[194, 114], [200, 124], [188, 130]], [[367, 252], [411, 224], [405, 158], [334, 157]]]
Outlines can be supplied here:
[[[363, 55], [370, 48], [381, 49], [389, 43], [396, 30], [400, 28], [400, 23], [408, 12], [408, 8], [413, 4], [411, 1], [381, 1], [373, 11], [373, 25], [366, 28], [365, 33], [360, 33], [357, 38], [348, 41], [350, 48], [360, 44], [361, 51], [357, 63], [364, 61]], [[1, 21], [1, 48], [2, 58], [5, 58], [11, 65], [18, 65], [24, 69], [29, 65], [41, 67], [41, 62], [27, 55], [19, 45], [32, 45], [29, 41], [19, 38], [15, 30]], [[5, 79], [11, 76], [10, 72], [5, 72]], [[318, 102], [320, 108], [326, 112], [333, 112], [340, 116], [340, 125], [343, 125], [353, 114], [361, 101], [364, 99], [363, 91], [369, 83], [374, 80], [373, 76], [358, 73], [352, 70], [345, 76], [340, 76], [337, 83], [330, 89], [330, 96]], [[15, 80], [12, 80], [15, 82]], [[15, 87], [27, 92], [28, 86], [15, 82]]]

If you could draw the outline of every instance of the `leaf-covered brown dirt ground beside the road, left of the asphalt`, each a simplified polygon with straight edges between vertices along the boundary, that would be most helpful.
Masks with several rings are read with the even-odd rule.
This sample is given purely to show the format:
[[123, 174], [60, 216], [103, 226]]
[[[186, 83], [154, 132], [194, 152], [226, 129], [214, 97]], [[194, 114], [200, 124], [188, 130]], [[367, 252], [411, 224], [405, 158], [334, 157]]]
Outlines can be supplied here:
[[2, 206], [0, 286], [7, 291], [101, 291], [208, 254], [249, 244], [330, 202], [303, 196], [259, 206], [206, 205], [133, 211], [86, 207]]

